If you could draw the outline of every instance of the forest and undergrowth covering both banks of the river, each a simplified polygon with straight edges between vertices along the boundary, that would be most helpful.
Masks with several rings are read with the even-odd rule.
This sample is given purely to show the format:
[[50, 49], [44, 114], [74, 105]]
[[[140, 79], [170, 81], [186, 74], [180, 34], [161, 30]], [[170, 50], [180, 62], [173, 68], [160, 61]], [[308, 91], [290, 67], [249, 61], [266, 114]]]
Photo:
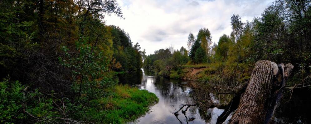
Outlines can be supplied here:
[[[142, 68], [161, 80], [196, 81], [193, 104], [180, 110], [187, 106], [182, 110], [186, 117], [192, 106], [224, 109], [217, 123], [234, 111], [230, 123], [247, 123], [237, 114], [250, 101], [245, 99], [252, 93], [248, 88], [253, 78], [264, 78], [255, 75], [261, 67], [279, 72], [268, 79], [281, 85], [280, 94], [272, 87], [273, 97], [283, 93], [290, 101], [293, 92], [310, 91], [310, 0], [276, 0], [251, 21], [232, 14], [232, 32], [219, 41], [213, 43], [208, 26], [202, 27], [197, 34], [189, 33], [187, 46], [171, 45], [150, 55], [122, 27], [105, 24], [103, 19], [111, 15], [125, 19], [116, 0], [0, 1], [0, 123], [133, 122], [152, 113], [159, 96], [120, 83], [117, 75], [134, 75]], [[271, 67], [266, 66], [270, 61]], [[213, 103], [212, 90], [231, 94], [231, 100]], [[258, 120], [248, 123], [269, 123], [279, 99], [272, 108], [268, 103], [262, 107], [266, 116], [248, 118]], [[177, 119], [178, 111], [172, 114]], [[260, 113], [254, 112], [250, 115]]]

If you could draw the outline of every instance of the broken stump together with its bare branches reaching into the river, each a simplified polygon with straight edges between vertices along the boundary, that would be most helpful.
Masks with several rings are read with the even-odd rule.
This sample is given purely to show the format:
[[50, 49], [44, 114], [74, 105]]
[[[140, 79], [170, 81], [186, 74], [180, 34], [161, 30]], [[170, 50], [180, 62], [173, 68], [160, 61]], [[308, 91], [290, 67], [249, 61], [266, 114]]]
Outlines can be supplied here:
[[[239, 88], [234, 89], [233, 92], [219, 92], [219, 94], [233, 94], [233, 98], [227, 104], [215, 103], [211, 99], [215, 95], [210, 95], [210, 88], [198, 83], [199, 86], [193, 92], [193, 97], [200, 102], [193, 105], [183, 105], [179, 110], [186, 106], [196, 105], [205, 109], [216, 107], [225, 109], [217, 118], [216, 123], [219, 124], [223, 123], [234, 111], [228, 122], [230, 124], [268, 124], [278, 108], [285, 83], [293, 68], [294, 66], [290, 63], [285, 65], [267, 60], [257, 61], [248, 83], [243, 83], [243, 86], [238, 86]], [[216, 85], [219, 85], [219, 82]], [[212, 91], [215, 91], [214, 88]], [[202, 102], [206, 105], [201, 106]], [[177, 112], [175, 113], [176, 116], [178, 115]]]

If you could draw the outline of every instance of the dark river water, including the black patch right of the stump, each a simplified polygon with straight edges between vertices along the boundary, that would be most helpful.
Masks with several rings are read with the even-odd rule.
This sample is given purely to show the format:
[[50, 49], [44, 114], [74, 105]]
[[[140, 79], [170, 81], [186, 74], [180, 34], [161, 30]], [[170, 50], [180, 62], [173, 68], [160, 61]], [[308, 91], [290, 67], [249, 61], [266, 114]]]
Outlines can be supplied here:
[[[138, 73], [122, 74], [118, 77], [120, 83], [148, 90], [156, 94], [159, 98], [159, 103], [152, 106], [150, 112], [134, 122], [129, 122], [130, 124], [216, 124], [217, 117], [224, 111], [218, 108], [203, 111], [194, 106], [188, 108], [186, 114], [179, 111], [179, 115], [175, 117], [174, 112], [182, 104], [194, 104], [194, 101], [190, 97], [192, 81], [157, 78], [145, 74], [143, 70]], [[283, 101], [275, 114], [275, 123], [311, 123], [311, 116], [309, 116], [311, 108], [310, 94], [308, 95], [309, 98], [303, 97], [303, 99], [300, 99], [299, 94], [293, 95], [297, 95], [294, 100], [299, 101], [299, 103], [294, 102], [294, 100], [290, 102]], [[287, 96], [284, 97], [286, 101], [289, 100], [286, 98]], [[217, 98], [213, 99], [217, 102]], [[202, 117], [200, 113], [206, 113], [206, 115], [210, 116]]]

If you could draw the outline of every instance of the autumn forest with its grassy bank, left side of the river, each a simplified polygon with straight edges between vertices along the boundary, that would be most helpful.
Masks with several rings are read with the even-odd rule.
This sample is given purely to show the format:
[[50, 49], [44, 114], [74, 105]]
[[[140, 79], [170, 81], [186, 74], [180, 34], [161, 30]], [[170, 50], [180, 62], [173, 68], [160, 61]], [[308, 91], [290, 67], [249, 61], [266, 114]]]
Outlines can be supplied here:
[[124, 123], [158, 98], [118, 84], [143, 51], [115, 0], [0, 2], [0, 123]]

